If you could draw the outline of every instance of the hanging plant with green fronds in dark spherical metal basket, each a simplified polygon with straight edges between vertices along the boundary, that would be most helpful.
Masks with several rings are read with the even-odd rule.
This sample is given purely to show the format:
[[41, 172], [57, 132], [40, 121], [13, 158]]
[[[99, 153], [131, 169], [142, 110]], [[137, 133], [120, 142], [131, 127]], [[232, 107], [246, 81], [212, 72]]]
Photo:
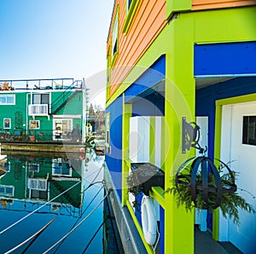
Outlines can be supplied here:
[[173, 187], [166, 192], [173, 193], [177, 206], [184, 205], [186, 211], [195, 207], [213, 211], [219, 207], [225, 218], [230, 216], [234, 223], [239, 224], [238, 207], [248, 212], [255, 211], [236, 193], [236, 172], [224, 162], [216, 161], [218, 168], [205, 156], [188, 159], [179, 167]]

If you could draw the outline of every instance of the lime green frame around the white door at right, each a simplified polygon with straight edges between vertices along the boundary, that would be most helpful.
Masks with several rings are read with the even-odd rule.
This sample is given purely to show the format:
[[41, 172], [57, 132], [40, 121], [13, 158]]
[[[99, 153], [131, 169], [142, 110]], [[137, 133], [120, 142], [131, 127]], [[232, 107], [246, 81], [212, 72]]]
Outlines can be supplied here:
[[[242, 102], [256, 101], [256, 94], [241, 95], [216, 101], [215, 105], [215, 137], [214, 137], [214, 158], [221, 155], [221, 128], [222, 128], [222, 109], [225, 105], [237, 104]], [[219, 208], [213, 211], [212, 238], [219, 240]]]

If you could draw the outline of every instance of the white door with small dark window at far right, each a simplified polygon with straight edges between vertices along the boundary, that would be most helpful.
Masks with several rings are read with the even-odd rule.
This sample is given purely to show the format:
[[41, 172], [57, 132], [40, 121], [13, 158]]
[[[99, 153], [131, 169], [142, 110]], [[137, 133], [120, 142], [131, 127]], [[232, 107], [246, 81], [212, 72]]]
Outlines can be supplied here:
[[[255, 210], [256, 118], [253, 116], [256, 116], [256, 102], [223, 107], [221, 159], [230, 162], [231, 170], [239, 172], [236, 180], [237, 192]], [[256, 253], [256, 216], [240, 210], [239, 217], [240, 226], [230, 219], [220, 217], [220, 240], [229, 240], [243, 253]]]

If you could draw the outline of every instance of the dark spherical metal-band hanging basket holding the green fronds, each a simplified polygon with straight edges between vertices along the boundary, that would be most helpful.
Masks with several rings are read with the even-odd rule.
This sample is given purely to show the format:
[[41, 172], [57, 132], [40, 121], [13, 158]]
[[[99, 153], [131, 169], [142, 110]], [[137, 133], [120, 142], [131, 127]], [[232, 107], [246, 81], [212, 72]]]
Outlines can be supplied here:
[[[235, 175], [229, 166], [216, 159], [201, 156], [186, 160], [177, 170], [175, 183], [178, 193], [189, 188], [195, 207], [214, 210], [221, 204], [224, 193], [235, 193]], [[226, 171], [226, 173], [224, 173]], [[223, 176], [220, 176], [223, 172]]]

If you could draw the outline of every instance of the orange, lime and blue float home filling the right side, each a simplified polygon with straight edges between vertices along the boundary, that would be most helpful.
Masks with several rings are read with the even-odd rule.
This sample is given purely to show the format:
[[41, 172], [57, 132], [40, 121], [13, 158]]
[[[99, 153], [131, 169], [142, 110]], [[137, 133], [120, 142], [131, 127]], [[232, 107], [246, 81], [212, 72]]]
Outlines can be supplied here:
[[[238, 207], [237, 225], [219, 207], [186, 211], [170, 191], [181, 166], [204, 155], [238, 172], [236, 193], [255, 210], [255, 24], [255, 1], [114, 1], [105, 179], [114, 190], [110, 199], [126, 253], [196, 253], [196, 230], [207, 231], [218, 246], [256, 252], [253, 212]], [[219, 173], [219, 162], [216, 168]], [[136, 193], [131, 176], [152, 171], [162, 180]], [[193, 177], [188, 188], [194, 197], [201, 191]], [[221, 202], [225, 188], [214, 188]]]

